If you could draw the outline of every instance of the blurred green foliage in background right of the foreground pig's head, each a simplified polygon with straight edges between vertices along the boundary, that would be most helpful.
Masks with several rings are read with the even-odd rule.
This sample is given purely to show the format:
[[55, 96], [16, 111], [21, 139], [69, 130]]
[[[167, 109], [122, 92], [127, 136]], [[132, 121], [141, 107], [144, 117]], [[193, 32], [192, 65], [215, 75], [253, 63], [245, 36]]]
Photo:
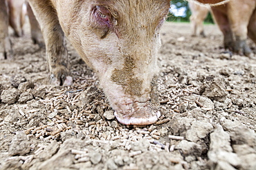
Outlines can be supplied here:
[[[190, 15], [191, 11], [190, 8], [188, 7], [188, 1], [183, 1], [183, 0], [172, 0], [171, 5], [176, 6], [176, 9], [181, 9], [185, 8], [185, 16], [184, 17], [176, 17], [174, 14], [171, 12], [168, 14], [167, 21], [176, 21], [176, 22], [189, 22], [190, 21]], [[212, 15], [210, 12], [208, 13], [208, 16], [206, 17], [204, 23], [214, 23], [212, 19]]]

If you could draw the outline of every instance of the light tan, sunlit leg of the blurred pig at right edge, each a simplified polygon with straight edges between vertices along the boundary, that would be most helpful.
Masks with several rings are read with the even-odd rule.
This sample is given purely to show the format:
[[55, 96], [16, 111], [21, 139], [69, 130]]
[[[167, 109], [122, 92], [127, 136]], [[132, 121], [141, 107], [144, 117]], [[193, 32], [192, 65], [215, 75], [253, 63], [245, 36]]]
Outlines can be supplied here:
[[[234, 51], [246, 56], [252, 54], [246, 39], [248, 34], [247, 27], [254, 6], [255, 4], [250, 4], [248, 1], [230, 1], [228, 3], [228, 20], [235, 36]], [[241, 14], [241, 12], [244, 12], [244, 14]]]

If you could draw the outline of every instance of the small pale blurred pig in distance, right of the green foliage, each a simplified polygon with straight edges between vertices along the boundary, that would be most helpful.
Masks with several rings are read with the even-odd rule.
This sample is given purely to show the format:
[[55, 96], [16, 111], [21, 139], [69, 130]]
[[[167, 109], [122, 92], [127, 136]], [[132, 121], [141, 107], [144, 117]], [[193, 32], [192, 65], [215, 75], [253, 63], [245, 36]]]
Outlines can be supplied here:
[[201, 6], [198, 3], [194, 3], [193, 1], [188, 2], [188, 6], [191, 10], [190, 23], [192, 28], [192, 36], [203, 36], [205, 37], [205, 33], [203, 31], [203, 21], [208, 15], [209, 8], [208, 6]]

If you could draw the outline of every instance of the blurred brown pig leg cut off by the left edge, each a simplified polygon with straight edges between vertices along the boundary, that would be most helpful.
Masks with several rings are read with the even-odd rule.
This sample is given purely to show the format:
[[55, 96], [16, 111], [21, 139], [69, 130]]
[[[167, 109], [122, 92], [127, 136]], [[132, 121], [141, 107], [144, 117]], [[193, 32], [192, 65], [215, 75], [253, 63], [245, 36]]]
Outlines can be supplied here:
[[0, 60], [12, 56], [12, 47], [8, 36], [8, 6], [5, 0], [0, 0]]

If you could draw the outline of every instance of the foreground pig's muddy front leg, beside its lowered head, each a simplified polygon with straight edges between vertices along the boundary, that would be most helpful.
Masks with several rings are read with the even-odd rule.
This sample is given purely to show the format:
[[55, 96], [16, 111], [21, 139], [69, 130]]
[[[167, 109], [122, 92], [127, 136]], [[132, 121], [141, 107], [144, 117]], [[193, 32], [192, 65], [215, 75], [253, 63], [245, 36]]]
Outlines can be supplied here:
[[42, 28], [46, 43], [46, 59], [50, 71], [52, 85], [71, 85], [68, 65], [68, 52], [64, 39], [64, 32], [60, 27], [55, 10], [49, 1], [28, 1]]

